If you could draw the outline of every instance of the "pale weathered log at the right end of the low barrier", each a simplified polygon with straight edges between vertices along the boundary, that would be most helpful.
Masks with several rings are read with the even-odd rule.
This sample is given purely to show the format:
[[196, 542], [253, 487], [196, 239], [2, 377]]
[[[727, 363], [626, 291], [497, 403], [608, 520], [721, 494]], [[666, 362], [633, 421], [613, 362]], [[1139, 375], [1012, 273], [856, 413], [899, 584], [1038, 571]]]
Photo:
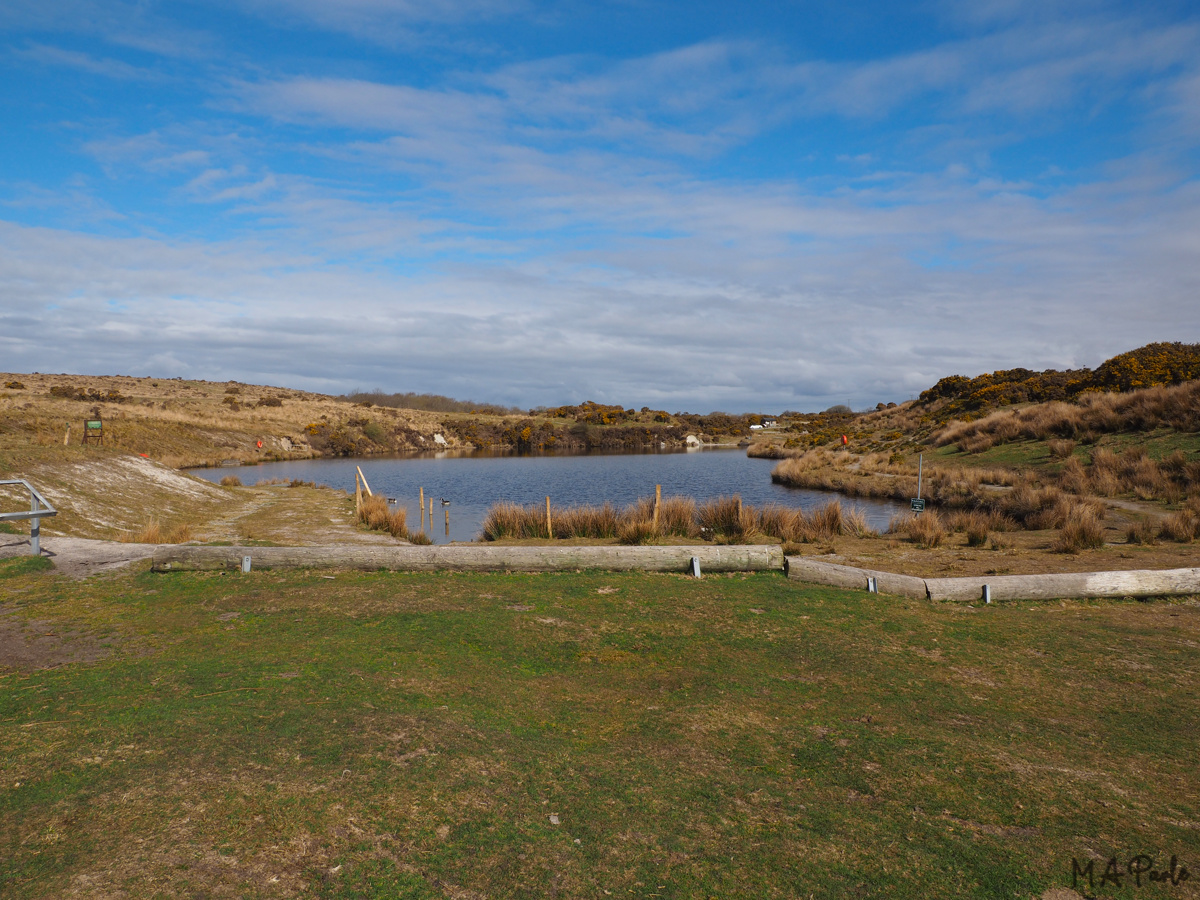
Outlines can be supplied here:
[[1200, 594], [1200, 569], [1140, 569], [1064, 575], [982, 575], [926, 578], [931, 600], [979, 600], [983, 586], [992, 600], [1057, 600], [1085, 596], [1171, 596]]

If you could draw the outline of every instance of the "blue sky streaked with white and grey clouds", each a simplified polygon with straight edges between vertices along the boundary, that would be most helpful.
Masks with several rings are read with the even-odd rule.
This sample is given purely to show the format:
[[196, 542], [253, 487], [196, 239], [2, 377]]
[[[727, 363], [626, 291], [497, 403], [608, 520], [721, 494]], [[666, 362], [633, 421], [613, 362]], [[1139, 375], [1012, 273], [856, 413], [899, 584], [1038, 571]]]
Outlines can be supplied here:
[[0, 370], [856, 408], [1200, 340], [1194, 2], [4, 0]]

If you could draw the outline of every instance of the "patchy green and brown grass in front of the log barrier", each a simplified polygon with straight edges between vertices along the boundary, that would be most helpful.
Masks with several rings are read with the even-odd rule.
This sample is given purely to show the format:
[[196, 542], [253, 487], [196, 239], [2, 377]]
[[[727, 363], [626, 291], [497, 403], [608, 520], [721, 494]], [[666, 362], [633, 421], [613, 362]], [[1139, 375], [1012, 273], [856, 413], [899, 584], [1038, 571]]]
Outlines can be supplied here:
[[1099, 883], [1200, 875], [1195, 600], [47, 565], [0, 563], [5, 898], [1200, 895]]

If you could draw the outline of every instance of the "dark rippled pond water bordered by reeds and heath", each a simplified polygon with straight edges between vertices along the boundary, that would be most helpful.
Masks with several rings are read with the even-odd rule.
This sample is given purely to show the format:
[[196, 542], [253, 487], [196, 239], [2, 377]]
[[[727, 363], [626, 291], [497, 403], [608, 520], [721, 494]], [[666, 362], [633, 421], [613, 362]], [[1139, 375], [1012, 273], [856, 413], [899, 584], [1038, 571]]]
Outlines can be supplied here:
[[[778, 503], [804, 510], [823, 506], [836, 494], [775, 485], [773, 460], [751, 460], [743, 450], [696, 450], [664, 454], [587, 454], [578, 456], [512, 456], [496, 454], [421, 454], [367, 460], [299, 460], [220, 469], [193, 469], [211, 481], [236, 475], [244, 484], [265, 479], [300, 479], [354, 491], [354, 467], [361, 466], [371, 490], [408, 508], [408, 526], [421, 524], [418, 491], [425, 488], [426, 514], [433, 498], [432, 530], [438, 544], [479, 538], [487, 509], [499, 500], [556, 506], [611, 502], [617, 506], [640, 497], [653, 497], [662, 485], [664, 497], [686, 494], [697, 500], [740, 494], [754, 506]], [[450, 506], [440, 499], [450, 500]], [[844, 503], [847, 503], [842, 499]], [[884, 528], [900, 504], [854, 500], [875, 528]], [[445, 512], [450, 512], [446, 535]]]

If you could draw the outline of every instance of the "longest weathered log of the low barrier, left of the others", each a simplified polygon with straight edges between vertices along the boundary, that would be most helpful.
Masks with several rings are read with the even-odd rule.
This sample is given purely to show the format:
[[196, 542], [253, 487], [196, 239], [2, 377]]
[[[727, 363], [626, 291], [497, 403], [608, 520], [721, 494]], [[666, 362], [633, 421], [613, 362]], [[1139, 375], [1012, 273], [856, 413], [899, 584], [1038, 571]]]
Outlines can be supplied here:
[[250, 557], [251, 569], [362, 569], [392, 571], [610, 571], [684, 572], [691, 558], [700, 571], [779, 571], [784, 551], [778, 545], [695, 547], [210, 547], [163, 544], [154, 553], [154, 571], [240, 569]]

